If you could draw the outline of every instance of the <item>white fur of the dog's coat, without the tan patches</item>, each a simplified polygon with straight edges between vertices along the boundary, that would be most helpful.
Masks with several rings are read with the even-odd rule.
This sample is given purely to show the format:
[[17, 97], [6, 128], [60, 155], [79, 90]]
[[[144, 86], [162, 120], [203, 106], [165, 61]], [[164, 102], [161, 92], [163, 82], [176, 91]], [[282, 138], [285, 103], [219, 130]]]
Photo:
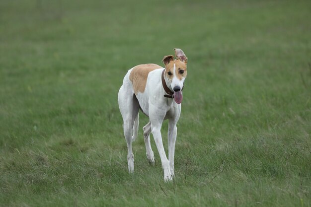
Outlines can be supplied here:
[[[175, 68], [175, 66], [174, 66]], [[174, 176], [174, 151], [177, 136], [177, 127], [181, 104], [177, 104], [173, 98], [166, 98], [166, 94], [161, 83], [161, 72], [163, 69], [155, 69], [148, 74], [147, 84], [143, 93], [137, 94], [137, 100], [133, 97], [134, 90], [129, 79], [132, 69], [130, 69], [123, 79], [123, 84], [119, 90], [118, 102], [123, 118], [124, 136], [128, 147], [128, 168], [130, 173], [134, 172], [134, 155], [132, 152], [132, 141], [137, 135], [139, 106], [143, 112], [149, 116], [149, 123], [143, 128], [144, 139], [147, 151], [147, 158], [150, 163], [155, 163], [154, 152], [150, 144], [150, 133], [153, 134], [156, 147], [160, 155], [164, 180], [170, 181]], [[173, 86], [183, 86], [184, 78], [178, 80], [175, 77], [175, 69], [172, 81], [164, 75], [167, 86], [172, 90]], [[175, 78], [175, 79], [174, 79]], [[162, 137], [161, 126], [163, 120], [168, 119], [168, 159], [166, 157]]]

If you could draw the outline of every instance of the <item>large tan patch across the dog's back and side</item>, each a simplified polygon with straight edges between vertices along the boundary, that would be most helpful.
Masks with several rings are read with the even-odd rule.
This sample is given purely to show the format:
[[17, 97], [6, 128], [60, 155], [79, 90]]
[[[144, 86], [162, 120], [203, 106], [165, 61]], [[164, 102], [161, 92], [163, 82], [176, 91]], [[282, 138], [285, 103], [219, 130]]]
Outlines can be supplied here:
[[143, 93], [146, 88], [147, 77], [149, 72], [154, 69], [161, 69], [162, 67], [156, 64], [143, 64], [135, 66], [130, 73], [130, 80], [133, 83], [134, 93], [137, 95], [138, 92]]

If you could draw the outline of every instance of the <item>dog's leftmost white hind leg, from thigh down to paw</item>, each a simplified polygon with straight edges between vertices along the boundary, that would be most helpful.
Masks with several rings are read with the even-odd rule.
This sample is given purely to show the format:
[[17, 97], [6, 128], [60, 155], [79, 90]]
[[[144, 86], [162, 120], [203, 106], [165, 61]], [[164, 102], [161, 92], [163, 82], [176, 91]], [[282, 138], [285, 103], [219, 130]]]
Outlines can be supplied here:
[[128, 155], [127, 155], [128, 168], [129, 172], [133, 173], [134, 154], [132, 151], [132, 141], [133, 141], [133, 134], [135, 135], [135, 133], [133, 132], [133, 128], [135, 120], [137, 119], [138, 121], [139, 105], [134, 103], [132, 88], [126, 88], [124, 87], [124, 85], [122, 85], [119, 90], [118, 102], [120, 112], [123, 118], [124, 137], [128, 148]]

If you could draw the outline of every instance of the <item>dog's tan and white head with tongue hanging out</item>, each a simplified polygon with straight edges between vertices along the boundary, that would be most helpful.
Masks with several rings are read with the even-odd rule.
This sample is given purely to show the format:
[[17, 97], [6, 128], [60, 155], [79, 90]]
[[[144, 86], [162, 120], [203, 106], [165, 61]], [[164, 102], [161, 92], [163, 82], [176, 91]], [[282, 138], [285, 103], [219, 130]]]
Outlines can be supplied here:
[[176, 103], [181, 103], [184, 80], [187, 76], [187, 57], [180, 49], [174, 49], [176, 59], [174, 56], [164, 56], [162, 62], [165, 65], [166, 79], [168, 80], [168, 87], [174, 91], [174, 99]]

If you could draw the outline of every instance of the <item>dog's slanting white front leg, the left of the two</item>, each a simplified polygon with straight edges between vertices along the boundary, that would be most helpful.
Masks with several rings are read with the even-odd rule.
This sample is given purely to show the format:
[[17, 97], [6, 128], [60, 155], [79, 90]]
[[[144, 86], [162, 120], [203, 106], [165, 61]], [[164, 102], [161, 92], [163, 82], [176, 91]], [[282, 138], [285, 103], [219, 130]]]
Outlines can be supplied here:
[[150, 107], [150, 112], [149, 112], [149, 118], [151, 122], [151, 133], [154, 136], [155, 142], [156, 142], [156, 148], [159, 152], [161, 163], [162, 163], [162, 168], [164, 172], [164, 181], [171, 181], [172, 176], [170, 173], [170, 167], [169, 167], [169, 161], [166, 157], [164, 147], [163, 147], [163, 142], [162, 142], [162, 137], [161, 137], [161, 126], [162, 122], [165, 116], [165, 111], [161, 111], [158, 108], [153, 109]]

